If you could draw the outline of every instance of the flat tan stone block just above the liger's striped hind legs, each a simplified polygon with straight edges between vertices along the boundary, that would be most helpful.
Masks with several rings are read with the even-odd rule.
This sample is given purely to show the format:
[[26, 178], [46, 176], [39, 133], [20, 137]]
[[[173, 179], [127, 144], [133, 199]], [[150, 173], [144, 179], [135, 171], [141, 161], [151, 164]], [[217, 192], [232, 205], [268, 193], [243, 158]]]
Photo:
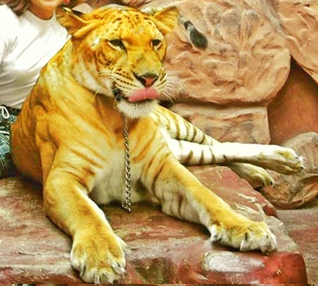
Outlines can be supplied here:
[[270, 142], [266, 107], [176, 103], [170, 109], [221, 142]]

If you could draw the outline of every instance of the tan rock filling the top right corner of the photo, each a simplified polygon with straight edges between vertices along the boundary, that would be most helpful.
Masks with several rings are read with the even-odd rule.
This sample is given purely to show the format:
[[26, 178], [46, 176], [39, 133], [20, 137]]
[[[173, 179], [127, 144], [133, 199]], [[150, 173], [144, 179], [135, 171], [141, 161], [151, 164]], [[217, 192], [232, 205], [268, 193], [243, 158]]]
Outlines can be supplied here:
[[317, 0], [276, 0], [293, 58], [318, 82]]

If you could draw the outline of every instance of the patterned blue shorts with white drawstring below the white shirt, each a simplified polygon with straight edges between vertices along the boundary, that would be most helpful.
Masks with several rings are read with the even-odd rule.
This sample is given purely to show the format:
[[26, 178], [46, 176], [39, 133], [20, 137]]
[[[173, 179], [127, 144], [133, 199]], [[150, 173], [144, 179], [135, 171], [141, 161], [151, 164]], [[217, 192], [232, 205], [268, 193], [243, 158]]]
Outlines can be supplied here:
[[[2, 106], [8, 111], [8, 116], [5, 113], [0, 113], [0, 178], [8, 176], [14, 170], [14, 164], [11, 159], [10, 148], [10, 126], [15, 121], [19, 114], [18, 109]], [[7, 119], [5, 117], [8, 117]]]

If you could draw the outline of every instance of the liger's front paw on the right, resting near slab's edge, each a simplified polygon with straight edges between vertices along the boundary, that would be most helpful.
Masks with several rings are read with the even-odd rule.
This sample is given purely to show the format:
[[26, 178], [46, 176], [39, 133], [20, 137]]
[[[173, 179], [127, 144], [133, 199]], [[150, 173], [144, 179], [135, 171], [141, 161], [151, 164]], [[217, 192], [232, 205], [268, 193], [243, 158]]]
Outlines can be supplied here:
[[229, 245], [240, 251], [260, 250], [271, 252], [276, 249], [276, 237], [264, 221], [247, 220], [237, 225], [212, 225], [211, 241]]

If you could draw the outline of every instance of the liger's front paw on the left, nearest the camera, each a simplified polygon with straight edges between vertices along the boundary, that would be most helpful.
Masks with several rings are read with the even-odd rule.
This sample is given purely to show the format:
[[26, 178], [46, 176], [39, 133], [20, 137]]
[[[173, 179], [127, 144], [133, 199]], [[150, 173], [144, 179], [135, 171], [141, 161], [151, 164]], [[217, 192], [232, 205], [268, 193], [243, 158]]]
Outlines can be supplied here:
[[74, 238], [71, 264], [87, 283], [108, 284], [125, 272], [125, 242], [112, 231]]

